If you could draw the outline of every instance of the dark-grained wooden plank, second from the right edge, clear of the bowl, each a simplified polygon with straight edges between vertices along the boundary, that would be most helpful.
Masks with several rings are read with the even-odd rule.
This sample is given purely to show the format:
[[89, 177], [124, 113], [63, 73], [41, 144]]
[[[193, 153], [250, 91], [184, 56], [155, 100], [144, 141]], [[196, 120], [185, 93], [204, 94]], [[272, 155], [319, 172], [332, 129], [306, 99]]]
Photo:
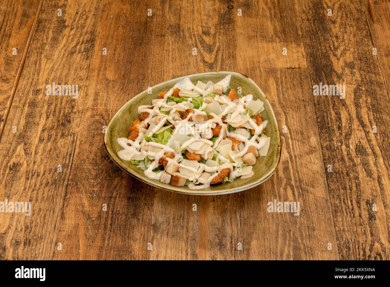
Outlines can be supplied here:
[[359, 2], [298, 5], [312, 85], [346, 85], [345, 99], [314, 97], [324, 164], [332, 165], [326, 177], [340, 259], [389, 259], [390, 104], [364, 9]]

